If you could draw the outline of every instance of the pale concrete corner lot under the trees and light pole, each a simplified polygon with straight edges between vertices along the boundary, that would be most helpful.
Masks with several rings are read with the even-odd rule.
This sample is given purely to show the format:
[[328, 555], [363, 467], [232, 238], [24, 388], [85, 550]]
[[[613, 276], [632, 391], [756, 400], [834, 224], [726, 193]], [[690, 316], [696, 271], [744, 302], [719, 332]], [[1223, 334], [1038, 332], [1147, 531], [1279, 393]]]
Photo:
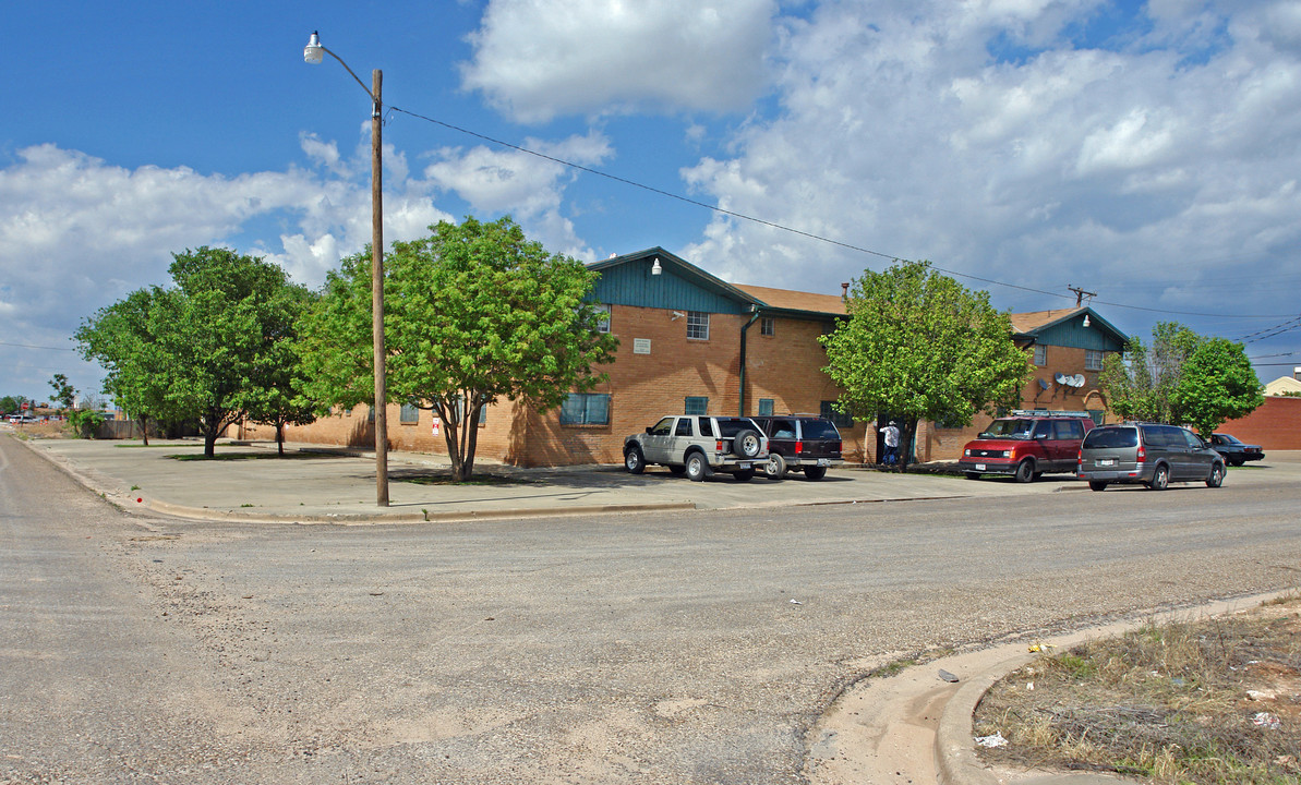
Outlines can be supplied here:
[[691, 482], [652, 467], [634, 476], [622, 465], [520, 469], [475, 464], [475, 481], [448, 481], [445, 456], [389, 452], [389, 502], [376, 506], [373, 454], [312, 444], [220, 442], [202, 460], [199, 441], [31, 439], [91, 490], [122, 508], [203, 519], [299, 522], [451, 521], [526, 515], [647, 509], [725, 509], [905, 499], [1041, 494], [1084, 487], [1068, 474], [1030, 485], [972, 482], [945, 474], [894, 474], [857, 465], [820, 481], [788, 474], [774, 482], [738, 482], [729, 474]]

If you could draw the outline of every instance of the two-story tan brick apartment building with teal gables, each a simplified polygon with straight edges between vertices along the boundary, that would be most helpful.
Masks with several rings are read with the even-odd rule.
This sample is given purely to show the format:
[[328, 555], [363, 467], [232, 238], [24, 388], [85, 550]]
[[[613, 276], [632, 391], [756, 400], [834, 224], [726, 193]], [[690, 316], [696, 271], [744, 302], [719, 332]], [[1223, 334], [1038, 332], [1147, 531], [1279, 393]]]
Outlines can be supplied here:
[[[731, 285], [662, 248], [588, 266], [600, 273], [592, 298], [609, 309], [606, 326], [619, 338], [614, 363], [601, 368], [609, 381], [546, 413], [505, 399], [485, 407], [477, 455], [522, 467], [617, 464], [624, 435], [683, 412], [822, 413], [840, 426], [847, 459], [878, 455], [874, 422], [837, 413], [840, 390], [821, 370], [826, 354], [817, 338], [844, 317], [843, 291]], [[1097, 369], [1125, 337], [1092, 308], [1013, 315], [1012, 322], [1012, 339], [1036, 360], [1025, 407], [1094, 409], [1101, 418], [1106, 404]], [[375, 443], [368, 413], [364, 405], [340, 412], [290, 428], [286, 438], [366, 447]], [[390, 404], [388, 420], [393, 450], [446, 452], [431, 412]], [[956, 457], [985, 424], [987, 417], [968, 429], [925, 424], [917, 457]], [[239, 435], [268, 439], [275, 433], [246, 425]]]

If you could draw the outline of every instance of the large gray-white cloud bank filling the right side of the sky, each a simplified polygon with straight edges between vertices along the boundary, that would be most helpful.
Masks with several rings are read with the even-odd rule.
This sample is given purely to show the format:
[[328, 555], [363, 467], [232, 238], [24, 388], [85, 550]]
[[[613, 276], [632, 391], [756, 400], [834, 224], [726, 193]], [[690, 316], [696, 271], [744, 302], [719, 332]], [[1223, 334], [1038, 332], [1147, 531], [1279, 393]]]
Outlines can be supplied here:
[[[1294, 309], [1249, 281], [1301, 244], [1301, 60], [1276, 44], [1296, 5], [1164, 3], [1147, 38], [1080, 48], [1099, 5], [824, 3], [785, 21], [782, 112], [683, 175], [725, 209], [984, 278]], [[1000, 60], [991, 42], [1026, 48]], [[829, 294], [889, 264], [723, 216], [683, 253], [730, 281]], [[1201, 283], [1226, 261], [1240, 286]]]

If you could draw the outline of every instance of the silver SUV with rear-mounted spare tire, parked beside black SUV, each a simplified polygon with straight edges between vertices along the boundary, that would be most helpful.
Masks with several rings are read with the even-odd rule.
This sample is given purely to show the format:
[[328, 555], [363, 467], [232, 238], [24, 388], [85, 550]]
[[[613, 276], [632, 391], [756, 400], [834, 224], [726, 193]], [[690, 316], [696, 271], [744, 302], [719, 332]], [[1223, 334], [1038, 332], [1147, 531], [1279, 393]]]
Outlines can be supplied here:
[[745, 482], [766, 463], [768, 437], [749, 417], [677, 415], [623, 439], [623, 465], [634, 474], [660, 464], [690, 480], [726, 472]]

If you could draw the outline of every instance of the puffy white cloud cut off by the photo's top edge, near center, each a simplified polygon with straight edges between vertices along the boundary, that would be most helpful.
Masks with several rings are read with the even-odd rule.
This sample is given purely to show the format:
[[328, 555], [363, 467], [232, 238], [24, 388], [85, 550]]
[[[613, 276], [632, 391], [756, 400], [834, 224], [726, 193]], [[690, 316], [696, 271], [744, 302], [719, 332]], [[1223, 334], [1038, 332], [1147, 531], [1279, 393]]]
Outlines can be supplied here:
[[523, 122], [744, 109], [765, 84], [774, 0], [492, 0], [463, 86]]

